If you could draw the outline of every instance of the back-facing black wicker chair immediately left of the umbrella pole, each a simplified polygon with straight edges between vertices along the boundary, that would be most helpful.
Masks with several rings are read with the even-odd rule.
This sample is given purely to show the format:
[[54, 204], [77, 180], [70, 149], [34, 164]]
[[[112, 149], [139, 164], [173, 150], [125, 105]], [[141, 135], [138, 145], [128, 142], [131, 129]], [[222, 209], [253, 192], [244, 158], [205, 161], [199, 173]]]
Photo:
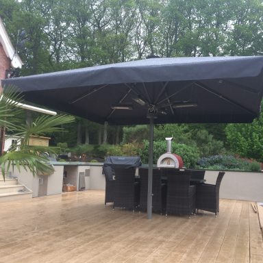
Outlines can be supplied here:
[[140, 201], [140, 183], [135, 181], [136, 168], [114, 168], [115, 190], [113, 208], [135, 210]]

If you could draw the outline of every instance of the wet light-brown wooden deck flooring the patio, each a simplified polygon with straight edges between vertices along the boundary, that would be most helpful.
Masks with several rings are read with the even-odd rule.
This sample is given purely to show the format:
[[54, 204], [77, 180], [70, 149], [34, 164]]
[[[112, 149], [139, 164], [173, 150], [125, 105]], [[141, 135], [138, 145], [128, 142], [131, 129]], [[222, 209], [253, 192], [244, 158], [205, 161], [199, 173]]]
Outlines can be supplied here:
[[88, 190], [0, 204], [0, 263], [263, 262], [258, 214], [221, 200], [217, 218], [105, 208]]

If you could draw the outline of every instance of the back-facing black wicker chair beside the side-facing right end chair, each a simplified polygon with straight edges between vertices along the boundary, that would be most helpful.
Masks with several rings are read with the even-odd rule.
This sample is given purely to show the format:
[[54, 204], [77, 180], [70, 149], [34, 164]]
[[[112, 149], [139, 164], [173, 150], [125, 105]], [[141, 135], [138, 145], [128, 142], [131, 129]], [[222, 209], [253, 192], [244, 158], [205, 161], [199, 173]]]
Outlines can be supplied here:
[[190, 185], [190, 171], [179, 171], [166, 168], [164, 173], [167, 177], [167, 214], [188, 214], [195, 212], [196, 186]]

